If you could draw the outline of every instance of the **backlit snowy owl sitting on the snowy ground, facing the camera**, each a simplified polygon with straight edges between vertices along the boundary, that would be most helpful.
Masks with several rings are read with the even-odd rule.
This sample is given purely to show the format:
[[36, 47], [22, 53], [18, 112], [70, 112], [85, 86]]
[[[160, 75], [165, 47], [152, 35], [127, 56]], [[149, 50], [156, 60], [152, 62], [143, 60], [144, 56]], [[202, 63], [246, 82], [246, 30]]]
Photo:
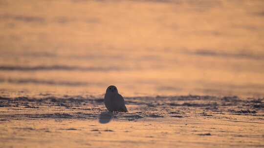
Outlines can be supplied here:
[[122, 111], [127, 112], [124, 98], [118, 93], [117, 88], [113, 85], [109, 86], [106, 90], [104, 102], [109, 111]]

